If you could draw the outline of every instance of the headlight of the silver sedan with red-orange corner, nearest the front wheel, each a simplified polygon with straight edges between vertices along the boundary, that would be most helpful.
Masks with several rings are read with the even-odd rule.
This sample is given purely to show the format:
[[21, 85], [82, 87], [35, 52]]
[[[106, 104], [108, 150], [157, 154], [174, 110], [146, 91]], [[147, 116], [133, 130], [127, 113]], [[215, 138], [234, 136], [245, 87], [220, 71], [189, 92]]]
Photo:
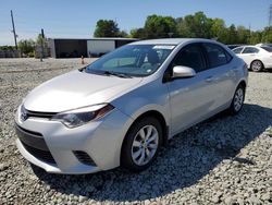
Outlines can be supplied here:
[[67, 128], [83, 125], [91, 120], [99, 119], [110, 112], [114, 107], [110, 104], [100, 104], [90, 107], [78, 108], [71, 111], [57, 113], [51, 120], [61, 121]]

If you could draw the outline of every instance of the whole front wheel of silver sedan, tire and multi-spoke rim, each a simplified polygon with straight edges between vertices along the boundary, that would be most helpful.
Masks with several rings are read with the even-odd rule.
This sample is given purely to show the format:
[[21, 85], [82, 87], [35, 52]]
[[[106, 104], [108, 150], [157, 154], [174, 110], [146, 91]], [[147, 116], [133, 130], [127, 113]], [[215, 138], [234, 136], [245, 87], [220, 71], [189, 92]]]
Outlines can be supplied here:
[[128, 130], [121, 154], [121, 165], [132, 171], [148, 168], [162, 145], [162, 128], [151, 117], [136, 121]]

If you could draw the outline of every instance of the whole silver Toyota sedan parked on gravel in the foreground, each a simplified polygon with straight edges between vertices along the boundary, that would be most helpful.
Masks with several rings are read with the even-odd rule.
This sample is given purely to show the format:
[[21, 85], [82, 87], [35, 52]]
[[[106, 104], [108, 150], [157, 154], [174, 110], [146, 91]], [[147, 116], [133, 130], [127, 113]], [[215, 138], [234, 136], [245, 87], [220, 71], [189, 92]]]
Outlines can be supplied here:
[[48, 172], [139, 171], [183, 130], [238, 113], [247, 75], [213, 40], [133, 43], [32, 91], [15, 116], [16, 145]]

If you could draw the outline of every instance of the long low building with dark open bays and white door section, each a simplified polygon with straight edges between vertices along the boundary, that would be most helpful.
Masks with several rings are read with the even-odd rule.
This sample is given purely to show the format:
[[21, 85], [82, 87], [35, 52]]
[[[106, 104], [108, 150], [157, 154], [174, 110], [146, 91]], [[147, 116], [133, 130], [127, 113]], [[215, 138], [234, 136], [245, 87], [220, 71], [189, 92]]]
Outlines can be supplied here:
[[100, 57], [123, 45], [137, 41], [135, 38], [90, 38], [90, 39], [49, 39], [52, 58]]

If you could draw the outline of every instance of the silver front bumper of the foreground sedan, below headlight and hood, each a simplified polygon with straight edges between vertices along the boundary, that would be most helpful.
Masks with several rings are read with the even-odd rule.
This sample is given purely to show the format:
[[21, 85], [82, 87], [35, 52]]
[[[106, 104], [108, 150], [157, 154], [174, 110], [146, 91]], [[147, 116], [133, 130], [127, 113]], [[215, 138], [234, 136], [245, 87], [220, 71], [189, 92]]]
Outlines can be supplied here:
[[[17, 148], [28, 161], [47, 172], [81, 174], [120, 166], [122, 142], [132, 119], [116, 108], [98, 121], [74, 129], [48, 119], [22, 121], [20, 113], [18, 108]], [[86, 153], [94, 164], [85, 164], [75, 152]]]

